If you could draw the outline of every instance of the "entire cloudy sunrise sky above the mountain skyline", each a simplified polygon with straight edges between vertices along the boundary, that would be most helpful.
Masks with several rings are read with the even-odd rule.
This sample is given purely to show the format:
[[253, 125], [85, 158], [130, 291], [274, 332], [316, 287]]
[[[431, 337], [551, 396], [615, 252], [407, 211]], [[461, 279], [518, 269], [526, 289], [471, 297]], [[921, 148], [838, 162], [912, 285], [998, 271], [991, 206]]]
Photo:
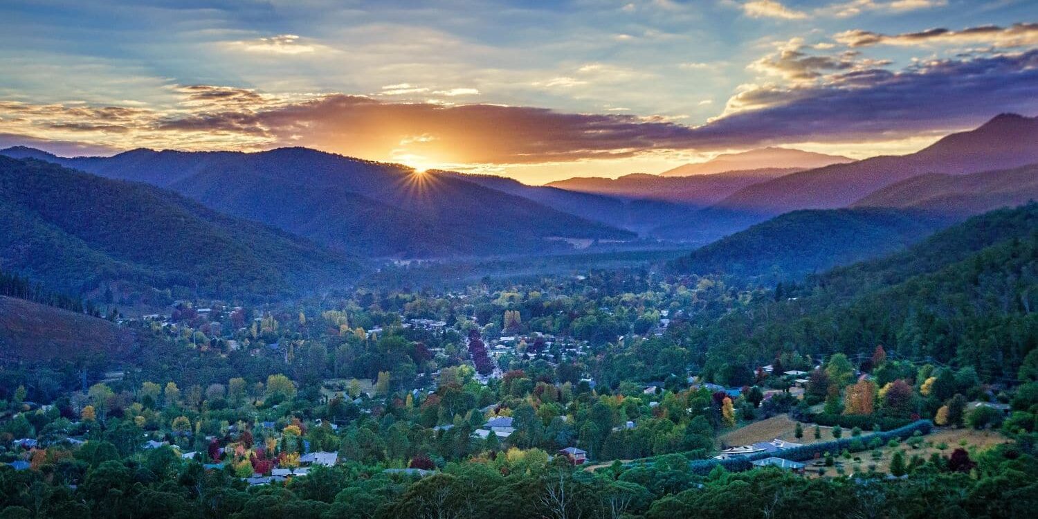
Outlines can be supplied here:
[[5, 0], [0, 147], [308, 146], [529, 184], [1038, 115], [1034, 0]]

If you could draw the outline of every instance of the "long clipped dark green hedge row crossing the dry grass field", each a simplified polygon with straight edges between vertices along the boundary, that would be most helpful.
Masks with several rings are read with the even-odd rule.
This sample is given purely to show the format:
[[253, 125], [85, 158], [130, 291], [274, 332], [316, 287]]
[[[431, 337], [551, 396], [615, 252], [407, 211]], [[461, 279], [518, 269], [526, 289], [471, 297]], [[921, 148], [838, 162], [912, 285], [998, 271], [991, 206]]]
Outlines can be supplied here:
[[[731, 472], [739, 472], [742, 470], [749, 470], [754, 468], [753, 462], [757, 460], [763, 460], [765, 458], [775, 457], [783, 458], [791, 461], [803, 462], [808, 460], [813, 460], [815, 455], [824, 455], [825, 453], [830, 453], [837, 455], [842, 453], [844, 449], [850, 452], [858, 452], [868, 448], [869, 443], [872, 440], [878, 438], [882, 443], [886, 443], [893, 439], [903, 440], [919, 431], [922, 434], [929, 434], [930, 430], [933, 429], [933, 422], [930, 420], [918, 420], [912, 421], [908, 425], [893, 429], [891, 431], [882, 433], [873, 433], [858, 436], [856, 438], [841, 438], [839, 440], [823, 441], [819, 443], [811, 443], [808, 445], [801, 445], [798, 447], [783, 450], [781, 453], [770, 454], [770, 453], [759, 453], [753, 456], [742, 456], [739, 458], [733, 458], [730, 460], [695, 460], [688, 462], [689, 468], [691, 468], [692, 473], [699, 475], [706, 475], [710, 473], [714, 467], [720, 465]], [[630, 465], [652, 465], [652, 462], [635, 462]]]

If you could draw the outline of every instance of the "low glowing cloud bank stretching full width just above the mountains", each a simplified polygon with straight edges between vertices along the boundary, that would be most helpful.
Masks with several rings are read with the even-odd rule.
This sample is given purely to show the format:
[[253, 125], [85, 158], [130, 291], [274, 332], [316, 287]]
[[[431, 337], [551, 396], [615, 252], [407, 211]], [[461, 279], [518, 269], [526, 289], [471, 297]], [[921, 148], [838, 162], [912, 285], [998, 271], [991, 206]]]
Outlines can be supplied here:
[[[890, 141], [968, 128], [1000, 112], [1038, 111], [1038, 50], [920, 61], [900, 71], [855, 53], [815, 52], [798, 40], [784, 44], [759, 66], [791, 80], [741, 86], [721, 116], [701, 126], [616, 111], [345, 93], [273, 95], [191, 85], [175, 88], [182, 103], [168, 109], [2, 102], [0, 133], [82, 140], [105, 149], [305, 145], [373, 160], [407, 155], [439, 164], [508, 166], [804, 141]], [[385, 89], [406, 88], [418, 87]]]

